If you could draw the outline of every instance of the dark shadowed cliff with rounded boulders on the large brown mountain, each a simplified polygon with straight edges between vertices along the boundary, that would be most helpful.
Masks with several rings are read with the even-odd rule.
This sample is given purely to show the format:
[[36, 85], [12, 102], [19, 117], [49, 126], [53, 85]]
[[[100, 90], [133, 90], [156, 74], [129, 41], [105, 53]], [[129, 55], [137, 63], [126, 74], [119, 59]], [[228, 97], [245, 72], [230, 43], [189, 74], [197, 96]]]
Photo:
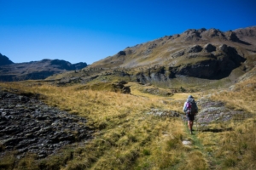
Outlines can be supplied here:
[[[140, 71], [134, 77], [137, 82], [160, 82], [170, 80], [176, 75], [215, 79], [228, 77], [230, 72], [241, 65], [246, 59], [241, 57], [236, 48], [223, 44], [216, 47], [210, 43], [203, 46], [195, 45], [172, 54], [172, 57], [183, 57], [184, 60], [199, 59], [185, 65], [149, 68]], [[187, 61], [186, 61], [187, 62]]]

